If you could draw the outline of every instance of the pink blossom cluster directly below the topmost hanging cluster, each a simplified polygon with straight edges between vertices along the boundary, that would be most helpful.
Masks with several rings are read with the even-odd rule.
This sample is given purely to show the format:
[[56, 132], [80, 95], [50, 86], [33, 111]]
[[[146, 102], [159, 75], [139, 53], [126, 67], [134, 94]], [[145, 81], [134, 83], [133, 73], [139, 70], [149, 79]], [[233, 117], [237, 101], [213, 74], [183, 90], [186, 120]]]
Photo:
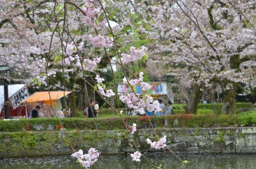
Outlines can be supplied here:
[[104, 37], [104, 36], [98, 35], [93, 38], [92, 35], [89, 35], [89, 39], [92, 41], [93, 45], [98, 47], [111, 46], [113, 43], [113, 38], [109, 38], [108, 36]]

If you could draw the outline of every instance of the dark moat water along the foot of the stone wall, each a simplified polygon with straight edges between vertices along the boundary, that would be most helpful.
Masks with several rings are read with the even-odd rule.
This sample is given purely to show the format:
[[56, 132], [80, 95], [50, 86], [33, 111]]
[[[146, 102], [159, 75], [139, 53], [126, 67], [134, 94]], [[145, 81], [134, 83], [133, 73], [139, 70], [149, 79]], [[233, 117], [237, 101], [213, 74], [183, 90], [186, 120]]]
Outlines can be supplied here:
[[[254, 169], [256, 168], [255, 154], [179, 154], [182, 160], [191, 161], [185, 165], [186, 169]], [[155, 166], [162, 164], [163, 169], [181, 168], [181, 162], [171, 154], [150, 156], [148, 160]], [[140, 162], [132, 161], [129, 156], [102, 156], [105, 169], [153, 169], [149, 163], [141, 157]], [[51, 156], [37, 158], [1, 159], [0, 168], [4, 169], [76, 169], [80, 165], [76, 159], [70, 156]], [[96, 167], [102, 169], [101, 161], [97, 161]], [[91, 167], [96, 169], [96, 167]]]

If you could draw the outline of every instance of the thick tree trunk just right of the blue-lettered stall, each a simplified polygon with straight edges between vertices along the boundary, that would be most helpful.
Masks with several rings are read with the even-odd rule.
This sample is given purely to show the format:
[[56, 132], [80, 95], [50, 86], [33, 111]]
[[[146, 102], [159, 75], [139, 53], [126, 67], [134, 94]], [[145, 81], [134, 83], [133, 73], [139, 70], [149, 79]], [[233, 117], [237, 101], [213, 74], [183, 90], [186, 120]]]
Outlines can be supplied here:
[[201, 85], [198, 86], [197, 84], [191, 87], [191, 92], [189, 95], [188, 104], [186, 107], [186, 113], [196, 114], [198, 109], [198, 103], [200, 101], [200, 91]]

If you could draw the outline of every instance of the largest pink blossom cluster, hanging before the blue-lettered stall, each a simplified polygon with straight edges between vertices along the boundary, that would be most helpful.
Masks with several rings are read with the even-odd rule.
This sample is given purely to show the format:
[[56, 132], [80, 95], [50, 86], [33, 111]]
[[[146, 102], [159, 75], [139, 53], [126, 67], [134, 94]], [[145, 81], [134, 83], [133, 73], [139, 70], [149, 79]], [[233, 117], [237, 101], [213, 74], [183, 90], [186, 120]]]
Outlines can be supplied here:
[[[129, 83], [125, 77], [123, 83], [121, 87], [123, 93], [119, 98], [123, 103], [126, 103], [129, 108], [133, 108], [135, 112], [143, 112], [144, 107], [147, 107], [149, 111], [155, 111], [155, 113], [160, 111], [159, 103], [158, 101], [153, 101], [153, 97], [143, 94], [139, 95], [132, 91], [136, 85], [140, 85], [142, 91], [149, 90], [150, 85], [143, 82], [143, 72], [139, 73], [138, 79], [131, 79]], [[153, 104], [150, 104], [150, 102]]]

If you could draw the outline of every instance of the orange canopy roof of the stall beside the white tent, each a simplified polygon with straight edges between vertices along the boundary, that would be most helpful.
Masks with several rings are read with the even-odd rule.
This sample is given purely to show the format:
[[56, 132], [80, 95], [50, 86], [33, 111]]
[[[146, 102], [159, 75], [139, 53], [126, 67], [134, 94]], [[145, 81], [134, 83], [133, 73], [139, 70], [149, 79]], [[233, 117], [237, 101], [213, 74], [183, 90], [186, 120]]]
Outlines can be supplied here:
[[[65, 91], [65, 95], [70, 94], [71, 92]], [[51, 100], [49, 97], [49, 92], [35, 92], [31, 96], [29, 96], [26, 100], [24, 100], [22, 103], [30, 103], [30, 102], [45, 102], [48, 105], [51, 105], [55, 102], [55, 100], [60, 99], [61, 97], [64, 97], [64, 91], [53, 91], [50, 92]]]

